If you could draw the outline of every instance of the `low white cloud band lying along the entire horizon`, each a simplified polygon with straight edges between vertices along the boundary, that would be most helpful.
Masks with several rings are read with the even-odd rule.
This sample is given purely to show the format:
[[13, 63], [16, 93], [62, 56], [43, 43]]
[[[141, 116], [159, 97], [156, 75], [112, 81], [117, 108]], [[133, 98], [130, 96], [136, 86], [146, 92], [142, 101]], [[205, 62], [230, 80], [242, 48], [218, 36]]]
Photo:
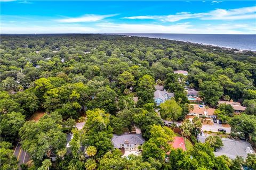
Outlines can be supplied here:
[[98, 23], [84, 26], [81, 24], [58, 25], [19, 25], [3, 24], [1, 33], [223, 33], [223, 34], [253, 34], [255, 27], [249, 24], [219, 24], [199, 25], [179, 23], [171, 25], [161, 24], [126, 24], [126, 23]]

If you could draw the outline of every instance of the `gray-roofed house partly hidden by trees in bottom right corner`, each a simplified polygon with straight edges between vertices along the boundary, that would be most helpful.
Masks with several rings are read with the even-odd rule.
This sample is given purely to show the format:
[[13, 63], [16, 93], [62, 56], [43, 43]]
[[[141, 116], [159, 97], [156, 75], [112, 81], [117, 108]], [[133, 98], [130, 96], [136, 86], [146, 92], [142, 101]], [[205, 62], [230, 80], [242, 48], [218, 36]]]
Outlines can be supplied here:
[[[198, 142], [205, 143], [205, 135], [198, 135]], [[249, 142], [243, 140], [234, 140], [229, 138], [221, 138], [223, 146], [214, 151], [215, 156], [226, 155], [230, 159], [235, 159], [236, 156], [247, 157], [247, 154], [252, 154], [252, 146]]]

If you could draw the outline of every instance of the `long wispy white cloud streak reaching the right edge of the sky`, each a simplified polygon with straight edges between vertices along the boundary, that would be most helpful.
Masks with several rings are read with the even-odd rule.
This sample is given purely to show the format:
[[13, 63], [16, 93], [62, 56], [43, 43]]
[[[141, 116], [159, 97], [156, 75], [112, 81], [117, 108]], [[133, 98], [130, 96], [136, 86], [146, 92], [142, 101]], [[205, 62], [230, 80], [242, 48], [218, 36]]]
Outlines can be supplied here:
[[233, 10], [216, 9], [204, 13], [180, 12], [175, 15], [142, 15], [129, 16], [123, 19], [152, 19], [164, 22], [175, 22], [185, 19], [198, 18], [201, 20], [245, 20], [255, 19], [256, 6], [237, 8]]

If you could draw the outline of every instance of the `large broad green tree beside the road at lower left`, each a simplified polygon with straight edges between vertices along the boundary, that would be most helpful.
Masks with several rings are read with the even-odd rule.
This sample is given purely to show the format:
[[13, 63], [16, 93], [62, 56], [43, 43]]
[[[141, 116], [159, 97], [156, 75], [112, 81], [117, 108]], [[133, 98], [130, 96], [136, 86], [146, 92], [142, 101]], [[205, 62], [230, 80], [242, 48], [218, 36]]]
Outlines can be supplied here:
[[66, 147], [66, 134], [62, 132], [62, 119], [58, 113], [45, 114], [38, 122], [28, 121], [19, 131], [22, 149], [36, 165], [45, 157]]

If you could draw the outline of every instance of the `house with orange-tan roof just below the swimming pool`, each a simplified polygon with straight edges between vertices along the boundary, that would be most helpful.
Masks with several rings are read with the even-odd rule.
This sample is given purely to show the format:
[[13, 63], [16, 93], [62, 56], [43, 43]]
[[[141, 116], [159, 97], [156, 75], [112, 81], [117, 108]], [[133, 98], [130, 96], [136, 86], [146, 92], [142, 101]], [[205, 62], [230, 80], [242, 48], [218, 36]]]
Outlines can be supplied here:
[[214, 108], [205, 108], [205, 105], [194, 105], [194, 109], [192, 111], [189, 111], [188, 115], [194, 115], [194, 116], [200, 116], [200, 115], [206, 115], [206, 116], [213, 116], [214, 115]]

